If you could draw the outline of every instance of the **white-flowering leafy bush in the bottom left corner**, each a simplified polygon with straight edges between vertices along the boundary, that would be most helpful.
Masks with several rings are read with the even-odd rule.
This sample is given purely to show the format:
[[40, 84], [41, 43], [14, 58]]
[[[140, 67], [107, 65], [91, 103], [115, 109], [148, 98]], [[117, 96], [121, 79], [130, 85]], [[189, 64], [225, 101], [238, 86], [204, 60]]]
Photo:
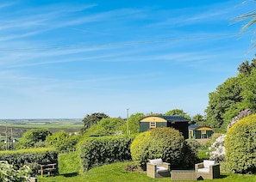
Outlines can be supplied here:
[[29, 181], [29, 167], [23, 166], [16, 170], [13, 165], [8, 163], [8, 161], [0, 161], [0, 181]]

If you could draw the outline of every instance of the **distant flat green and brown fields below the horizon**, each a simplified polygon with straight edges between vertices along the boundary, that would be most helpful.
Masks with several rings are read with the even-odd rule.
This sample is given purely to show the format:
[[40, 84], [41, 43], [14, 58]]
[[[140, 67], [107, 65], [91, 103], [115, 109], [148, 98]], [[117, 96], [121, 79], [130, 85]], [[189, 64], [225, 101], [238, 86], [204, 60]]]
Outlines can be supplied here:
[[58, 118], [58, 119], [0, 119], [0, 134], [6, 136], [22, 137], [27, 130], [36, 128], [48, 128], [51, 132], [65, 130], [66, 132], [76, 132], [83, 128], [82, 119], [79, 118]]

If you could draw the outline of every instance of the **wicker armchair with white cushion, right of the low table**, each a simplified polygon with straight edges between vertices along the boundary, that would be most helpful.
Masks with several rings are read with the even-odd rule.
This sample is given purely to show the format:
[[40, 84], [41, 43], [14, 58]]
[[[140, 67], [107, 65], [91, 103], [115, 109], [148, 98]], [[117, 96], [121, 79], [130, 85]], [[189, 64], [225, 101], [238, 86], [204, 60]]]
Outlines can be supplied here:
[[220, 164], [215, 161], [203, 160], [195, 165], [198, 179], [217, 179], [220, 176]]

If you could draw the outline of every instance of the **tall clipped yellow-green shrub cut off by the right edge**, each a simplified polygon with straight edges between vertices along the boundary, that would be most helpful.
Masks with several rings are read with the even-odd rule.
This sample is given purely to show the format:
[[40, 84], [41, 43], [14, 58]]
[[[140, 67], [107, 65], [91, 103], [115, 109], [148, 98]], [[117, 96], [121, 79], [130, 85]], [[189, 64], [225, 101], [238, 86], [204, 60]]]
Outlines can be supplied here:
[[233, 173], [256, 172], [256, 114], [240, 119], [225, 137], [226, 165]]

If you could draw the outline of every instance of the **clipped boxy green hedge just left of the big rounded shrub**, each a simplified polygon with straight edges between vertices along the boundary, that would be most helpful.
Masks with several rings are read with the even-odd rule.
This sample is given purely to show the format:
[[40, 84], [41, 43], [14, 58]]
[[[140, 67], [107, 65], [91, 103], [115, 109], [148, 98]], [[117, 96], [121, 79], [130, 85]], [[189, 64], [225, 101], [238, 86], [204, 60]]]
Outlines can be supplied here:
[[133, 137], [89, 137], [79, 147], [84, 171], [103, 164], [131, 160], [132, 141]]

